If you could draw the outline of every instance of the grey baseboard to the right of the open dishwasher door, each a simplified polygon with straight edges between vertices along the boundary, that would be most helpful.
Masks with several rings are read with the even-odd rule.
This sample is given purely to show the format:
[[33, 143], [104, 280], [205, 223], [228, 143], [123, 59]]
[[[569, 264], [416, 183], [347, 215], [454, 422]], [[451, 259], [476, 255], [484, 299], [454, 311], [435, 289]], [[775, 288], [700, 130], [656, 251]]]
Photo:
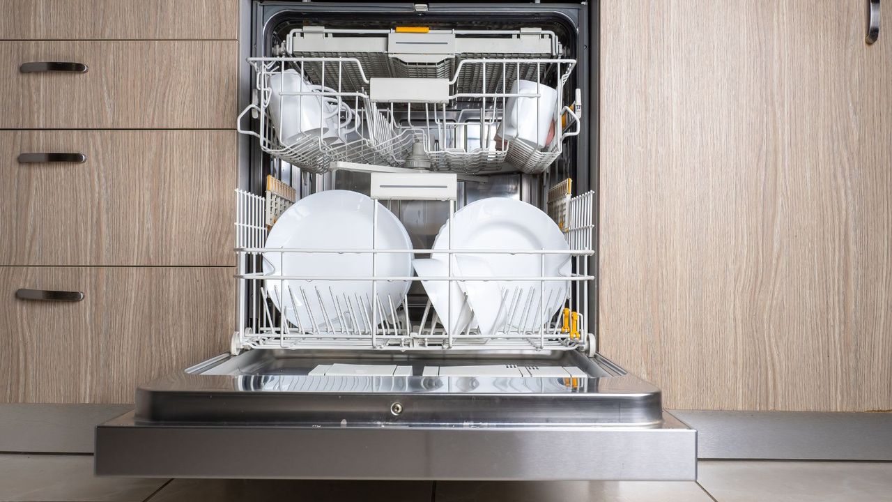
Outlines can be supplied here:
[[892, 460], [892, 413], [671, 410], [699, 458]]

